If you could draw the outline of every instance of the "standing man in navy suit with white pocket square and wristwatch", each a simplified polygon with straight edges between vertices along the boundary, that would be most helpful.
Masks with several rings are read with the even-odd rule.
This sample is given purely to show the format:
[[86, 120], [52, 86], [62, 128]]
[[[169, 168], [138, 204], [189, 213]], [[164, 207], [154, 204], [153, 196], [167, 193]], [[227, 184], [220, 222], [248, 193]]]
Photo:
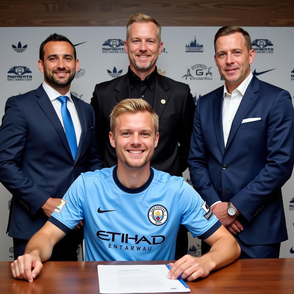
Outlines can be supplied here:
[[[240, 258], [278, 258], [288, 239], [281, 187], [294, 163], [290, 94], [250, 71], [249, 34], [225, 26], [215, 39], [224, 86], [196, 106], [189, 170], [196, 191], [241, 247]], [[202, 243], [202, 253], [206, 248]]]

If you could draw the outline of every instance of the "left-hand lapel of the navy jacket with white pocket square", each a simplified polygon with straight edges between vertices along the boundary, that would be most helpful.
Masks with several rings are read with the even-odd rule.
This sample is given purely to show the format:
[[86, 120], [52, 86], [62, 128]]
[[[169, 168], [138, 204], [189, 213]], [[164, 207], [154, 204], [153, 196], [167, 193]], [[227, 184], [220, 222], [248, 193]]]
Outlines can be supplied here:
[[218, 146], [223, 154], [225, 152], [225, 143], [223, 141], [223, 87], [216, 93], [216, 98], [213, 99], [213, 126], [218, 140]]

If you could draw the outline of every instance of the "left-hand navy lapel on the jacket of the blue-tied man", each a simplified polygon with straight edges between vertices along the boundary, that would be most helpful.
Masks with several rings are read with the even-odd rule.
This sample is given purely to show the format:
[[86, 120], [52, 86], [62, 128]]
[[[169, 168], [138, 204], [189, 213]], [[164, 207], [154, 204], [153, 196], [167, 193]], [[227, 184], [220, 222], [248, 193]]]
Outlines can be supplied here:
[[42, 85], [36, 89], [36, 96], [39, 97], [39, 99], [37, 99], [38, 104], [40, 105], [40, 107], [42, 108], [44, 113], [46, 114], [49, 121], [54, 126], [54, 128], [55, 128], [56, 132], [58, 133], [66, 150], [68, 151], [68, 153], [72, 157], [71, 150], [69, 148], [69, 143], [68, 143], [66, 136], [65, 136], [65, 133], [64, 133], [64, 129], [63, 129], [63, 127], [60, 123], [59, 117], [57, 116], [56, 111], [55, 111], [48, 95], [44, 91], [44, 88]]

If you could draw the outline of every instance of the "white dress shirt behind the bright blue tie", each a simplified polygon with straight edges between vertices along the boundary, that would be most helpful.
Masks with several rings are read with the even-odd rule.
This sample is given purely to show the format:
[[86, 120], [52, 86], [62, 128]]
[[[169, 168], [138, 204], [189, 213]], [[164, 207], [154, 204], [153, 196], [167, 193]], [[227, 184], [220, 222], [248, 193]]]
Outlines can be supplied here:
[[59, 96], [67, 96], [69, 99], [67, 99], [67, 109], [69, 110], [69, 113], [71, 115], [71, 119], [73, 121], [74, 124], [74, 130], [76, 133], [76, 143], [78, 145], [78, 143], [80, 142], [80, 138], [81, 138], [81, 133], [82, 133], [82, 126], [80, 123], [80, 119], [78, 118], [78, 113], [76, 111], [76, 107], [74, 106], [74, 102], [71, 99], [71, 92], [68, 91], [65, 95], [61, 95], [59, 92], [57, 92], [55, 89], [53, 89], [52, 87], [50, 87], [47, 83], [43, 83], [42, 84], [46, 94], [48, 95], [57, 116], [59, 117], [59, 120], [62, 124], [62, 127], [64, 129], [64, 123], [63, 123], [63, 119], [62, 119], [62, 114], [61, 114], [61, 102], [59, 100], [57, 100], [57, 98]]

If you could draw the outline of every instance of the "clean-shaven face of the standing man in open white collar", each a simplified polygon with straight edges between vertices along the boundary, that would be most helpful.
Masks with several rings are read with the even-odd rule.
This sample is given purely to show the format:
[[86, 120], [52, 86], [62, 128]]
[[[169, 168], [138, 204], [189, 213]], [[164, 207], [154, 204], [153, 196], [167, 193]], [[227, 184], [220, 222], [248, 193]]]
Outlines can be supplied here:
[[218, 37], [214, 60], [229, 93], [248, 77], [254, 57], [255, 51], [253, 49], [248, 51], [241, 33]]

